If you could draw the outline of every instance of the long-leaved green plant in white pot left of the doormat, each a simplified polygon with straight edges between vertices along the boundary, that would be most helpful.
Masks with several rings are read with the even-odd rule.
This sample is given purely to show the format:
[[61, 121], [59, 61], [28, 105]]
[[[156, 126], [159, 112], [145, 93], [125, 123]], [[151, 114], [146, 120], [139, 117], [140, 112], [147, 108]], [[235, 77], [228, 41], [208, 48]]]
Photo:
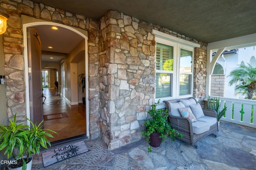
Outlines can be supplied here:
[[[30, 120], [28, 119], [28, 121]], [[39, 154], [41, 146], [44, 148], [47, 148], [47, 145], [51, 146], [46, 136], [52, 138], [53, 136], [46, 131], [54, 131], [42, 129], [42, 123], [43, 121], [36, 125], [30, 121], [31, 128], [28, 125], [16, 124], [15, 114], [13, 121], [9, 119], [9, 125], [0, 125], [0, 150], [6, 149], [4, 154], [7, 154], [8, 158], [12, 156], [14, 159], [8, 165], [9, 169], [31, 169], [31, 154]]]

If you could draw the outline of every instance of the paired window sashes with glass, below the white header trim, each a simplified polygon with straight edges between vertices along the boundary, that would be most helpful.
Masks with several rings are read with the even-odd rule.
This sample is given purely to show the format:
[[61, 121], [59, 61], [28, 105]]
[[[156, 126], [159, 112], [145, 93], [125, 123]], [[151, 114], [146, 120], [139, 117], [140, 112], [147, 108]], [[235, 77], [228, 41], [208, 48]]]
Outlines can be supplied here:
[[193, 48], [167, 44], [156, 43], [156, 98], [192, 96]]

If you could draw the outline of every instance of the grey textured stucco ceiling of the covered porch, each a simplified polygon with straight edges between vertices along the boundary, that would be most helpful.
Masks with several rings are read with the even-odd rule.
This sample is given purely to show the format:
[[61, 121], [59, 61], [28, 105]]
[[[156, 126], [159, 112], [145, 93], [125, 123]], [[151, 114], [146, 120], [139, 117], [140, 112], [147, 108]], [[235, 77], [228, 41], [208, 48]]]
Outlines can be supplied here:
[[116, 10], [210, 43], [256, 33], [255, 0], [32, 0], [100, 20]]

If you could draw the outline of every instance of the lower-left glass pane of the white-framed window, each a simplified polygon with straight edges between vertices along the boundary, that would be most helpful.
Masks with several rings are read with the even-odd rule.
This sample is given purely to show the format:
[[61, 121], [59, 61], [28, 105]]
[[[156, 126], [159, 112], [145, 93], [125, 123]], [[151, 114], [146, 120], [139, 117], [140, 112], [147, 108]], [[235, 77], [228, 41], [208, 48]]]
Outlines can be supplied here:
[[156, 73], [156, 98], [172, 96], [172, 74]]

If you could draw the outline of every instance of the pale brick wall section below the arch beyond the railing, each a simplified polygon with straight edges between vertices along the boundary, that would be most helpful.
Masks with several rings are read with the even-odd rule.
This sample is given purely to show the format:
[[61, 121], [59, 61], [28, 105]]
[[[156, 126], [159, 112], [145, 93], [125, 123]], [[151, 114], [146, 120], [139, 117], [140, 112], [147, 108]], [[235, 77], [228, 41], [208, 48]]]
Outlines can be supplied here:
[[211, 75], [211, 95], [224, 97], [225, 75]]

